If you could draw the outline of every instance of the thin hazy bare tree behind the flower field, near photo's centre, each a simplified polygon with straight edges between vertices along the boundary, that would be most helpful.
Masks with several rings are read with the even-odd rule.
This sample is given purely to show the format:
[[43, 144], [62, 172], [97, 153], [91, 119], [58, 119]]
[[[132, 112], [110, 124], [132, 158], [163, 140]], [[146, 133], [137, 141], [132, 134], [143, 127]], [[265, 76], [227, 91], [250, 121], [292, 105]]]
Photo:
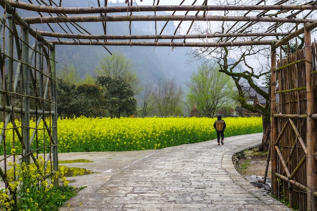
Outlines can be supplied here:
[[177, 105], [179, 105], [182, 89], [173, 79], [161, 79], [157, 82], [153, 92], [157, 111], [160, 116], [175, 115]]

